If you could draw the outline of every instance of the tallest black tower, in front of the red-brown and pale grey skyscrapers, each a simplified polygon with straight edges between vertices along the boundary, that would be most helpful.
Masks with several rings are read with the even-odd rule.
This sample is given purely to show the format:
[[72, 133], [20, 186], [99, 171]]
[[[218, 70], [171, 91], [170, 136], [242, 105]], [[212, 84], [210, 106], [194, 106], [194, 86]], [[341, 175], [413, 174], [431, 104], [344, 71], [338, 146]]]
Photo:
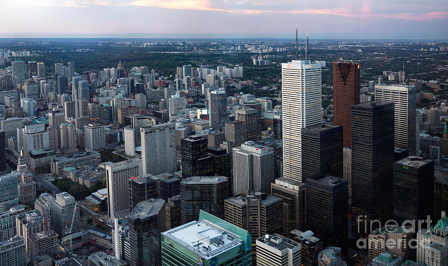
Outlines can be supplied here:
[[392, 215], [394, 104], [370, 101], [351, 110], [352, 233], [366, 238], [370, 221], [384, 224]]

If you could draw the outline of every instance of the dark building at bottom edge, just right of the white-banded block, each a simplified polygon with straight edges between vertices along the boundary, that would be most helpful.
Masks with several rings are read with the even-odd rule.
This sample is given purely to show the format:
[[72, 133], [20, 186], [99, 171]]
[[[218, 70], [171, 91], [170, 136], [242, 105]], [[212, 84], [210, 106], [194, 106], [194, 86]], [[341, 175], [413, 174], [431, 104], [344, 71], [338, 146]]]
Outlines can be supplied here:
[[324, 249], [322, 240], [314, 236], [312, 231], [302, 232], [292, 230], [289, 238], [295, 240], [302, 246], [301, 256], [303, 266], [317, 266], [319, 253]]

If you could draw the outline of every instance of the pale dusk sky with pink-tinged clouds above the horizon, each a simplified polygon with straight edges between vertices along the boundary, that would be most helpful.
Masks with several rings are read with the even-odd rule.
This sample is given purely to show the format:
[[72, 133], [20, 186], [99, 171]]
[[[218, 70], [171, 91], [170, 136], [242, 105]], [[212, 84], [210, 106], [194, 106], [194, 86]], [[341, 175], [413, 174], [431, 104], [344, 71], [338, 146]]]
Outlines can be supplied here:
[[448, 39], [447, 0], [0, 0], [0, 37]]

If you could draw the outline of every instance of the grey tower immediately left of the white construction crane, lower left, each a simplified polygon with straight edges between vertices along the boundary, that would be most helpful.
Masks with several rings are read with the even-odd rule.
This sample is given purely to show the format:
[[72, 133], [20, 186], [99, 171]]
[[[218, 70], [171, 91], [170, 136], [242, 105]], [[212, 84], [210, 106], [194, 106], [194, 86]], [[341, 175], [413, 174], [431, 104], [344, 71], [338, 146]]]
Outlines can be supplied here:
[[[59, 236], [66, 236], [67, 230], [71, 233], [80, 232], [80, 211], [75, 198], [67, 192], [57, 193], [53, 202], [54, 229]], [[73, 218], [75, 217], [75, 218]]]

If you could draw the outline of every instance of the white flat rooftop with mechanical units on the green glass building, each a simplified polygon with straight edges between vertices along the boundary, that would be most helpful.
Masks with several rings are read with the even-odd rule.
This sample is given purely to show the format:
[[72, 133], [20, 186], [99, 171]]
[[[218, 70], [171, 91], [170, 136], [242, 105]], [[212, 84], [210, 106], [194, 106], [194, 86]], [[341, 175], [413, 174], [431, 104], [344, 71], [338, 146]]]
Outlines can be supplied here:
[[243, 244], [239, 236], [204, 220], [192, 221], [162, 234], [206, 260]]

